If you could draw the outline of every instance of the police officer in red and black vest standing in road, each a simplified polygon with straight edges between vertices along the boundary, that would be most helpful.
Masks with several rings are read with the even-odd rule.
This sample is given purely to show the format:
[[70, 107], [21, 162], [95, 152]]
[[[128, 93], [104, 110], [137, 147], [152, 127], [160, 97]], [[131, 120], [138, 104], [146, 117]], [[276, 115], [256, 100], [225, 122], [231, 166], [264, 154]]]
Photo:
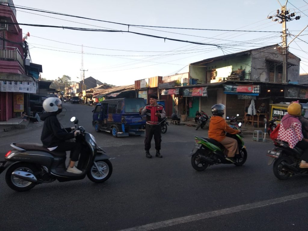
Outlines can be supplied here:
[[163, 105], [158, 104], [157, 95], [150, 95], [150, 103], [145, 105], [144, 108], [139, 109], [140, 115], [146, 115], [146, 125], [145, 125], [145, 139], [144, 139], [144, 149], [145, 156], [147, 158], [152, 158], [149, 150], [151, 148], [151, 140], [154, 135], [156, 157], [163, 157], [160, 155], [160, 142], [161, 142], [161, 128], [160, 123], [162, 119], [166, 116]]

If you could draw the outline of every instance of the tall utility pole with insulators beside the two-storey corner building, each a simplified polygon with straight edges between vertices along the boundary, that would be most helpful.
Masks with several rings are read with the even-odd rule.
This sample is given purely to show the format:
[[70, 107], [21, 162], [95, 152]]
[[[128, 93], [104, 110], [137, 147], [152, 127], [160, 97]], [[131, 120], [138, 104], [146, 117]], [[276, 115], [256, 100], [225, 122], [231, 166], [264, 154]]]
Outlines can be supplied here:
[[[279, 1], [278, 1], [279, 2]], [[286, 1], [287, 4], [288, 0]], [[280, 2], [279, 2], [280, 4]], [[298, 20], [300, 19], [300, 16], [295, 16], [295, 12], [290, 14], [290, 10], [287, 10], [286, 4], [284, 6], [281, 6], [281, 10], [277, 10], [277, 14], [268, 16], [268, 19], [272, 18], [272, 21], [276, 22], [279, 19], [278, 23], [282, 24], [282, 55], [283, 55], [283, 65], [282, 65], [282, 83], [288, 83], [288, 43], [287, 43], [287, 27], [286, 22], [292, 21], [292, 20]], [[274, 17], [277, 17], [273, 19]]]

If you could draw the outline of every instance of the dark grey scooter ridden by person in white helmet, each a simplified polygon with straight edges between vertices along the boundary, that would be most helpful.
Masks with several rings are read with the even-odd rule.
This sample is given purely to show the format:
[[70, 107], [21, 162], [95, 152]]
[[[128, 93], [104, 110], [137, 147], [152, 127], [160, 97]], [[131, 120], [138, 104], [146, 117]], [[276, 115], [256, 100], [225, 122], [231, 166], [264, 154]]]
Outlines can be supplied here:
[[75, 130], [81, 132], [75, 139], [82, 145], [77, 168], [83, 172], [66, 172], [66, 152], [49, 151], [42, 144], [12, 143], [10, 146], [14, 149], [6, 153], [5, 161], [0, 161], [0, 174], [10, 166], [5, 175], [10, 188], [27, 191], [37, 184], [82, 180], [85, 176], [95, 183], [102, 183], [111, 176], [112, 164], [105, 151], [96, 145], [94, 136], [79, 127], [75, 117], [71, 122], [74, 122]]

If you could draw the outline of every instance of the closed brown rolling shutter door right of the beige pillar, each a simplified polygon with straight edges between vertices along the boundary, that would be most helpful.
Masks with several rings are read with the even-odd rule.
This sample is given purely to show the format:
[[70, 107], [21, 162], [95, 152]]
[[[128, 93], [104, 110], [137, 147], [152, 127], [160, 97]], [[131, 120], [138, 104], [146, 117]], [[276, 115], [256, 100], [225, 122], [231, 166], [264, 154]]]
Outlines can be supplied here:
[[244, 117], [245, 112], [245, 99], [237, 99], [237, 95], [226, 95], [226, 117], [236, 116]]

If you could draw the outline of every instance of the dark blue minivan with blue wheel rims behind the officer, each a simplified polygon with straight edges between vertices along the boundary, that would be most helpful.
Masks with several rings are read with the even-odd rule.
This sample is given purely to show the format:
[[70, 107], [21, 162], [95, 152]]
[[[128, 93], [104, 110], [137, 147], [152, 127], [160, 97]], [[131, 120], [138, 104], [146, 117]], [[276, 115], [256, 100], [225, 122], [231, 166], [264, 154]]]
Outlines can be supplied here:
[[139, 136], [145, 131], [145, 116], [139, 114], [140, 107], [144, 106], [143, 98], [103, 100], [92, 111], [92, 125], [96, 132], [111, 132], [114, 137], [128, 136], [128, 132]]

